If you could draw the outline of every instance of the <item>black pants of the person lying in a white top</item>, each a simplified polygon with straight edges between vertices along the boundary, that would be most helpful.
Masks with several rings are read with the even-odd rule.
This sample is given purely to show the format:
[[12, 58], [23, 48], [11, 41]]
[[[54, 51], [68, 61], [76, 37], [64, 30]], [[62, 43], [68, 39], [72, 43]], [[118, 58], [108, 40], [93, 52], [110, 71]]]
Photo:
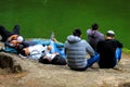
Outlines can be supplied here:
[[66, 65], [66, 60], [58, 54], [54, 57], [54, 59], [50, 62], [48, 59], [39, 59], [40, 63], [43, 64], [55, 64], [55, 65]]

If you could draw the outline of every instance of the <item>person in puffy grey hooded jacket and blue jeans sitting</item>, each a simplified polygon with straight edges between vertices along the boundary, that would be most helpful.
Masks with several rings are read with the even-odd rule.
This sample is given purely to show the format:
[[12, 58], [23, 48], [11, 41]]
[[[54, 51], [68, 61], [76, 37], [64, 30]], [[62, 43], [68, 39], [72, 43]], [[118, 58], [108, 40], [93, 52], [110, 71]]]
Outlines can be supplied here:
[[[92, 47], [81, 39], [81, 30], [79, 28], [74, 29], [73, 35], [67, 37], [65, 53], [67, 65], [76, 71], [84, 71], [99, 61], [99, 54], [95, 54]], [[88, 54], [91, 57], [90, 59], [87, 58]]]

